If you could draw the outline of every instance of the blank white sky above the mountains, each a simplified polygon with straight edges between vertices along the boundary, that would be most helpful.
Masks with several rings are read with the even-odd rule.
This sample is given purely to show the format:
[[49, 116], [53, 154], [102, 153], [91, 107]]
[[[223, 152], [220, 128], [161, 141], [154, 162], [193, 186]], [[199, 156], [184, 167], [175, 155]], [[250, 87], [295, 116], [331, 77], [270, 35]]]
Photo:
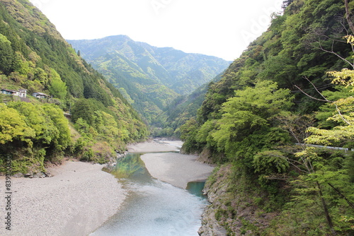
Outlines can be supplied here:
[[280, 12], [282, 0], [30, 0], [67, 40], [127, 35], [234, 60]]

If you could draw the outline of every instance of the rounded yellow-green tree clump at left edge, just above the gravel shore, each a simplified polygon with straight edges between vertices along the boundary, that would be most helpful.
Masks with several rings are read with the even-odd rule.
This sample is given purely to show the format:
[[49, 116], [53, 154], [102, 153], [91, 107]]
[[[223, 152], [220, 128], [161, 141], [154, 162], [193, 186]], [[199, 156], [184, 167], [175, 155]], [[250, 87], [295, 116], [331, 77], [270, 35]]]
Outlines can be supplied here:
[[0, 150], [11, 151], [13, 172], [44, 171], [45, 162], [60, 161], [72, 144], [68, 121], [59, 107], [27, 102], [0, 107]]

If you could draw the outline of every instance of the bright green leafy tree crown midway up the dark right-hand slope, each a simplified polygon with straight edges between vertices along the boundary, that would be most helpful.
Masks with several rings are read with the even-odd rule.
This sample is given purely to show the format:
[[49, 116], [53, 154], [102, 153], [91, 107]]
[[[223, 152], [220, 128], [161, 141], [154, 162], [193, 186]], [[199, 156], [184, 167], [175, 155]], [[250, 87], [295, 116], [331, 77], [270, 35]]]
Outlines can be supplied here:
[[278, 89], [271, 81], [256, 83], [254, 88], [238, 90], [222, 107], [222, 118], [212, 133], [219, 151], [234, 155], [235, 142], [241, 142], [263, 127], [270, 126], [273, 119], [292, 105], [290, 90]]

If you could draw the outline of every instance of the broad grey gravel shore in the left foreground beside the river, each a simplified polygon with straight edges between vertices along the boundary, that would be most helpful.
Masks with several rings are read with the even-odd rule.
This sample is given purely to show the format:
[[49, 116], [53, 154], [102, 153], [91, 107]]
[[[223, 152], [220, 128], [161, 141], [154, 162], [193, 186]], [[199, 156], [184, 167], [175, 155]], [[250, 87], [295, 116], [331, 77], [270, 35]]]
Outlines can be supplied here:
[[89, 235], [113, 216], [125, 190], [102, 165], [67, 162], [54, 177], [12, 178], [11, 231], [5, 229], [4, 187], [0, 178], [0, 235]]

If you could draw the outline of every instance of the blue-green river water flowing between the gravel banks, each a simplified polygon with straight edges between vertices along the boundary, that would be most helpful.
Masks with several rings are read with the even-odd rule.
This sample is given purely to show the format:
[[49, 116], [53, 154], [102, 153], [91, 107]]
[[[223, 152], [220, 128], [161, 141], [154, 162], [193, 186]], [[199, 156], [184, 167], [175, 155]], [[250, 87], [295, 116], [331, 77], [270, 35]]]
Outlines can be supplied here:
[[[139, 158], [130, 153], [110, 172], [120, 179], [128, 196], [110, 220], [92, 236], [198, 236], [207, 200], [203, 182], [190, 182], [186, 189], [152, 178]], [[103, 206], [104, 207], [104, 206]]]

